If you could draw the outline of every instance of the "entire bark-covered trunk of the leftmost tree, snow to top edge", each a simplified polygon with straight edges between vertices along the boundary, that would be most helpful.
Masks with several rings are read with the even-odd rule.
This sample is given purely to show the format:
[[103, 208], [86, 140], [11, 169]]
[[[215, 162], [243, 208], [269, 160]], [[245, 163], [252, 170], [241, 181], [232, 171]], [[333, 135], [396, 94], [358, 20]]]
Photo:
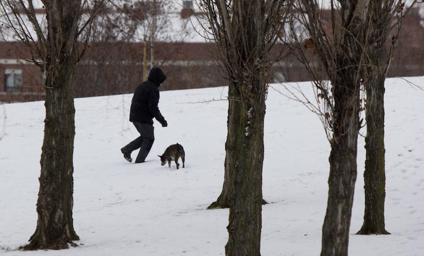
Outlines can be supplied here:
[[46, 118], [41, 154], [37, 227], [24, 250], [68, 248], [79, 237], [73, 227], [73, 145], [80, 1], [43, 1], [47, 14]]

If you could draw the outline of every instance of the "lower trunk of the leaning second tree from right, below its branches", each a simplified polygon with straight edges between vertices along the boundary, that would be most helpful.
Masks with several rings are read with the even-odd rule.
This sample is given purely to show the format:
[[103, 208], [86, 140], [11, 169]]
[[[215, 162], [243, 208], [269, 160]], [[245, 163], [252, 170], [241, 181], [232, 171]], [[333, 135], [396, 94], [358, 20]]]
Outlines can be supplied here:
[[322, 228], [321, 256], [343, 256], [348, 253], [349, 228], [357, 177], [357, 139], [359, 132], [359, 84], [349, 72], [339, 74], [342, 82], [334, 85], [334, 141], [329, 157], [327, 210]]

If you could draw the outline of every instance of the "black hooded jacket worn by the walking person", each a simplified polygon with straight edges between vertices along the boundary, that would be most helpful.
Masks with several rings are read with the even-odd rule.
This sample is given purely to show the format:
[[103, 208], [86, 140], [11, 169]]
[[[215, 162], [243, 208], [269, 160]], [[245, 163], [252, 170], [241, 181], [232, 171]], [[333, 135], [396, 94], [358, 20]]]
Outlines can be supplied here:
[[153, 125], [153, 117], [161, 124], [165, 118], [159, 111], [159, 89], [166, 75], [159, 67], [153, 67], [149, 72], [147, 81], [142, 82], [135, 89], [131, 100], [130, 122], [141, 122]]

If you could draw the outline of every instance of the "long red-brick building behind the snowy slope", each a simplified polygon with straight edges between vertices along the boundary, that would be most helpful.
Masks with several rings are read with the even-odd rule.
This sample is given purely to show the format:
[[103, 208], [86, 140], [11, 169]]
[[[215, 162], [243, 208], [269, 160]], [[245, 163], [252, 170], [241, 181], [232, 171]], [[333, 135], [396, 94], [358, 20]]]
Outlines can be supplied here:
[[[190, 6], [190, 1], [183, 2], [184, 6]], [[187, 19], [190, 14], [192, 11], [181, 7], [178, 16]], [[421, 23], [417, 9], [404, 20], [388, 76], [424, 75]], [[211, 47], [203, 39], [155, 43], [155, 65], [168, 77], [161, 90], [226, 85]], [[132, 93], [142, 81], [142, 53], [142, 42], [93, 42], [77, 65], [75, 97]], [[23, 57], [29, 56], [22, 43], [0, 41], [0, 102], [44, 98], [43, 75], [34, 64], [24, 60]], [[310, 80], [294, 56], [279, 61], [270, 72], [268, 82]]]

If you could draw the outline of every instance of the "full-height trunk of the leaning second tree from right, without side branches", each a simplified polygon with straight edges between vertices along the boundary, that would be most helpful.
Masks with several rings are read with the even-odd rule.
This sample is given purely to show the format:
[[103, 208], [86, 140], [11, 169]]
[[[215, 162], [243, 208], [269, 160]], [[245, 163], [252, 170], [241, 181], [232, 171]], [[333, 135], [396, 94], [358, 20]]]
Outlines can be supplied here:
[[[360, 81], [363, 46], [361, 18], [352, 2], [342, 8], [346, 31], [329, 66], [334, 109], [332, 113], [330, 174], [327, 210], [322, 228], [321, 256], [347, 256], [353, 196], [357, 178], [357, 141], [360, 128]], [[344, 12], [343, 12], [344, 11]], [[325, 59], [325, 58], [324, 58]]]

